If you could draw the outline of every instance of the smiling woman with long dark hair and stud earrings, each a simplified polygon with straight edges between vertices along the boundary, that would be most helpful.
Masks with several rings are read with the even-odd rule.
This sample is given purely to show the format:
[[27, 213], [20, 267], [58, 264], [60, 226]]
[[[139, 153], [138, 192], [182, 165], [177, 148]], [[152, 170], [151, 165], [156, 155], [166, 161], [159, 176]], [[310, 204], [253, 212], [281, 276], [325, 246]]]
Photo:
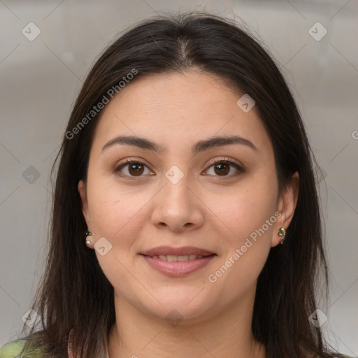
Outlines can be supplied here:
[[278, 67], [234, 22], [127, 31], [57, 158], [43, 327], [0, 357], [342, 357], [314, 295], [315, 159]]

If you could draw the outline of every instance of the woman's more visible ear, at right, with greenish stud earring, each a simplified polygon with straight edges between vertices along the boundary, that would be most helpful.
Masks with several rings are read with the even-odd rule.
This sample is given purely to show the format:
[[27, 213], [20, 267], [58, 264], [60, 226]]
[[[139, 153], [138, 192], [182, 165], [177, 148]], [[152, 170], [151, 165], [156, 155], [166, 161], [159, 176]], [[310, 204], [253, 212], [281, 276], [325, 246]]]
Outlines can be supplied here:
[[287, 183], [282, 190], [282, 194], [278, 198], [277, 210], [281, 214], [278, 220], [275, 222], [273, 228], [273, 236], [271, 239], [271, 248], [275, 247], [282, 240], [282, 236], [278, 236], [280, 227], [284, 227], [287, 230], [289, 224], [294, 217], [294, 210], [296, 209], [297, 199], [299, 198], [299, 173], [295, 172], [291, 180]]

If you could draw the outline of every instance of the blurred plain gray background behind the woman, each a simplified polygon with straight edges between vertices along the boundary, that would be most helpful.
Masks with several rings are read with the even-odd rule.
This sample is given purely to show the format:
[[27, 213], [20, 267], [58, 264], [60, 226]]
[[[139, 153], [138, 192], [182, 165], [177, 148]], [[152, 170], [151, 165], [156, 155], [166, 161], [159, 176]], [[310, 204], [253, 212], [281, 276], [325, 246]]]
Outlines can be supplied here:
[[243, 20], [292, 88], [322, 169], [331, 271], [322, 329], [358, 356], [357, 0], [0, 0], [0, 345], [20, 333], [43, 273], [50, 167], [90, 66], [129, 25], [187, 10]]

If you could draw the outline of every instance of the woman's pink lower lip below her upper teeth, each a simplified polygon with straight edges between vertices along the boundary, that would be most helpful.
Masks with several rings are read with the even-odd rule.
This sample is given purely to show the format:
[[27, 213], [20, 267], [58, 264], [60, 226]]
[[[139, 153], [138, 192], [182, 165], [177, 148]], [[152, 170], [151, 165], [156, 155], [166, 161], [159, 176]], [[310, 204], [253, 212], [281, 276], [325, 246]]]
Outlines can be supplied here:
[[201, 259], [194, 259], [189, 261], [165, 261], [162, 259], [154, 259], [150, 256], [142, 255], [146, 262], [157, 271], [162, 272], [171, 277], [180, 277], [188, 275], [199, 268], [206, 266], [216, 255], [202, 257]]

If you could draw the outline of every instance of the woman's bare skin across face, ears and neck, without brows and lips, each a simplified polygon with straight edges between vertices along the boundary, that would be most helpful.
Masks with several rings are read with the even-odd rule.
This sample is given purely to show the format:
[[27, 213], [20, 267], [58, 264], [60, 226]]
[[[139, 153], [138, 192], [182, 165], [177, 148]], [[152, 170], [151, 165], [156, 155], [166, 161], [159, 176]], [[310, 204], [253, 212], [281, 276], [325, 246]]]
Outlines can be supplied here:
[[[292, 220], [299, 176], [278, 192], [270, 138], [255, 106], [248, 113], [237, 106], [242, 95], [212, 74], [189, 70], [138, 78], [104, 108], [87, 181], [78, 190], [92, 232], [89, 248], [101, 237], [112, 245], [103, 256], [95, 250], [115, 290], [110, 357], [266, 357], [251, 332], [257, 277], [282, 240], [280, 227], [287, 229]], [[190, 151], [197, 141], [232, 134], [257, 150], [235, 143], [196, 155]], [[119, 135], [144, 137], [164, 150], [121, 144], [101, 153]], [[128, 165], [114, 171], [126, 158], [145, 165], [140, 176]], [[212, 159], [237, 162], [243, 171], [231, 165], [221, 174]], [[176, 184], [165, 176], [173, 165], [183, 173]], [[280, 217], [210, 282], [208, 275], [275, 212]], [[171, 278], [138, 255], [161, 245], [195, 246], [217, 257], [194, 273]], [[176, 326], [166, 320], [172, 310], [182, 319]]]

